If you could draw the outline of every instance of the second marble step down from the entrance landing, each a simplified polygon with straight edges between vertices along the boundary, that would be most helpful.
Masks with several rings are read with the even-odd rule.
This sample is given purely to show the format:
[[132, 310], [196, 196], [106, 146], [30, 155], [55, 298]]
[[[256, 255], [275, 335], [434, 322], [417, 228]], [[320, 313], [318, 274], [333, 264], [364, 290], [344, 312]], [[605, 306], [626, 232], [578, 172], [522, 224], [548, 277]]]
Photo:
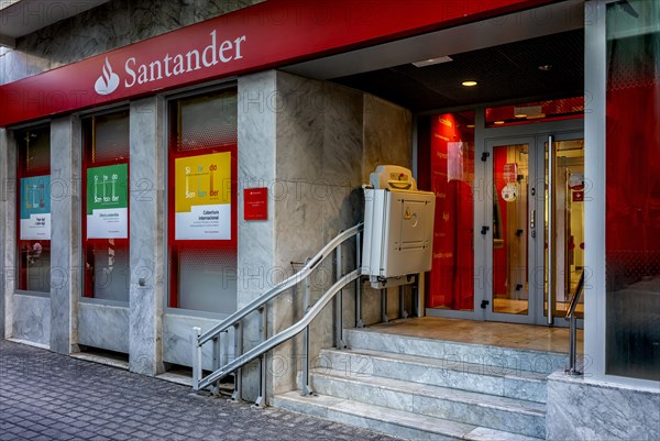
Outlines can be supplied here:
[[546, 374], [370, 350], [322, 350], [315, 367], [546, 403]]

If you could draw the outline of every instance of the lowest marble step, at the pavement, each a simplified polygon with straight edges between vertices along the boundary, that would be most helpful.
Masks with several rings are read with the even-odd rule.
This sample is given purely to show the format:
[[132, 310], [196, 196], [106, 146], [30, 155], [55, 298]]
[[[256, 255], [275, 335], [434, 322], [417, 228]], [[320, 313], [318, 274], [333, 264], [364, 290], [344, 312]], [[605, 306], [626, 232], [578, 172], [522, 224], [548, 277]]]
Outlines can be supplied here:
[[521, 434], [328, 396], [275, 395], [273, 405], [407, 440], [539, 441]]

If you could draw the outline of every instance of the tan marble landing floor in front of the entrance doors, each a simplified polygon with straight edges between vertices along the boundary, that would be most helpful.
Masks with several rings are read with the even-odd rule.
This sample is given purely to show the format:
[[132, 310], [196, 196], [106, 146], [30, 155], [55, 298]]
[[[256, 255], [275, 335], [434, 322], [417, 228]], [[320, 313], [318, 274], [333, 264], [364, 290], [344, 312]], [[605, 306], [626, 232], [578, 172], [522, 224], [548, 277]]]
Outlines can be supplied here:
[[[568, 328], [421, 317], [393, 320], [363, 330], [521, 350], [569, 352]], [[579, 353], [582, 353], [582, 348], [583, 331], [578, 330]]]

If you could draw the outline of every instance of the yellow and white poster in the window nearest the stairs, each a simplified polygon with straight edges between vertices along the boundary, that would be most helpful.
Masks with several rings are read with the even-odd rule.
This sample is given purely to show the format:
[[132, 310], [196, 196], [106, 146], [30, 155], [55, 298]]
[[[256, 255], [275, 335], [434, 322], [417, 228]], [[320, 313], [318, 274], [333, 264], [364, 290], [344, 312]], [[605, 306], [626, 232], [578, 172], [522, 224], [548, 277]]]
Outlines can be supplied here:
[[231, 153], [179, 157], [174, 168], [174, 239], [230, 240]]

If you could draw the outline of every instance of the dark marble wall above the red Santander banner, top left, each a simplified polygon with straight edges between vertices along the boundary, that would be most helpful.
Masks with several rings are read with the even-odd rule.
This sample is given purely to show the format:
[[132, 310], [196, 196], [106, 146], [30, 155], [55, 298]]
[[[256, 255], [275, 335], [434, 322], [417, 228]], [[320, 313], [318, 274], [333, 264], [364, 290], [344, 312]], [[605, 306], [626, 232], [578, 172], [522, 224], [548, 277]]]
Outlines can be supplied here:
[[[113, 0], [18, 38], [15, 49], [0, 51], [0, 85], [88, 58], [208, 20], [263, 0]], [[23, 18], [34, 20], [34, 5]], [[76, 2], [42, 2], [43, 14], [58, 14]]]

